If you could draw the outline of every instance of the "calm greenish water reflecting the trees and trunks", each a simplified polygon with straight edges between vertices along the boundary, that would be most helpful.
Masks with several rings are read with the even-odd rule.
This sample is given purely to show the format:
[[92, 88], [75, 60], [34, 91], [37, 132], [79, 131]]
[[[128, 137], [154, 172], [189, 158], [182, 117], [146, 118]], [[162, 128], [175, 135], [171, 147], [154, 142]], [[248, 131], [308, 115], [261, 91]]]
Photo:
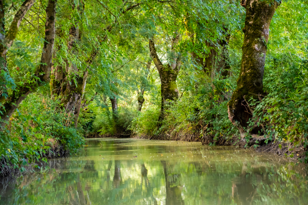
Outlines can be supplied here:
[[0, 204], [308, 204], [306, 168], [273, 155], [182, 141], [87, 145], [46, 173], [1, 179]]

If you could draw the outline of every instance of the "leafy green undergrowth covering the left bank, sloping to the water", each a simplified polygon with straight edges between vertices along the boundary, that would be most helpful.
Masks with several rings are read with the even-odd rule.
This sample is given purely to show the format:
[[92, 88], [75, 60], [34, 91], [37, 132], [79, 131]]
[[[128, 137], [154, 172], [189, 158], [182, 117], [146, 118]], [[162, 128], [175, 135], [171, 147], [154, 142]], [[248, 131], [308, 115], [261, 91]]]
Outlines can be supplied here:
[[38, 93], [42, 92], [30, 94], [0, 131], [2, 174], [9, 169], [24, 170], [27, 163], [46, 161], [47, 154], [55, 156], [57, 149], [75, 153], [84, 145], [73, 116], [57, 108], [58, 101]]

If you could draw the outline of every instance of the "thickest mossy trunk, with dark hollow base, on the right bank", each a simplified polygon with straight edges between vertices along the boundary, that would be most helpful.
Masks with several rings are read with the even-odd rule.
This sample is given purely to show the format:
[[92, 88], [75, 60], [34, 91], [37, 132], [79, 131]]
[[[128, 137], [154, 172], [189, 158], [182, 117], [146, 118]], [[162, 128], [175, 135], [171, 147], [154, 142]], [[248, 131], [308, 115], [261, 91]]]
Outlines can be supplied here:
[[248, 121], [253, 114], [253, 107], [250, 103], [251, 98], [258, 101], [264, 96], [263, 74], [266, 44], [269, 38], [270, 22], [279, 4], [276, 1], [269, 5], [267, 1], [242, 0], [241, 6], [246, 8], [241, 70], [237, 79], [237, 88], [228, 103], [228, 114], [243, 138], [246, 128], [251, 134], [258, 134], [261, 129], [255, 125], [252, 128], [248, 127]]

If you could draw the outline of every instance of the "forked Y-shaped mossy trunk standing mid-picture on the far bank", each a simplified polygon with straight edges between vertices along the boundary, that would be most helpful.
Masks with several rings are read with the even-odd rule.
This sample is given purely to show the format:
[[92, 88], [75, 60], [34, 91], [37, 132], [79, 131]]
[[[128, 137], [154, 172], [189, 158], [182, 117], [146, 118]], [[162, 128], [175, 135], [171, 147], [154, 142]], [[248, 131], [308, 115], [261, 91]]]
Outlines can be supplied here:
[[159, 120], [164, 119], [164, 106], [168, 101], [175, 101], [179, 98], [179, 91], [176, 87], [176, 77], [180, 71], [180, 56], [175, 53], [175, 46], [179, 42], [179, 36], [172, 39], [172, 52], [174, 52], [174, 59], [171, 65], [163, 65], [157, 56], [153, 38], [149, 39], [150, 56], [156, 66], [160, 76], [161, 83], [161, 111]]

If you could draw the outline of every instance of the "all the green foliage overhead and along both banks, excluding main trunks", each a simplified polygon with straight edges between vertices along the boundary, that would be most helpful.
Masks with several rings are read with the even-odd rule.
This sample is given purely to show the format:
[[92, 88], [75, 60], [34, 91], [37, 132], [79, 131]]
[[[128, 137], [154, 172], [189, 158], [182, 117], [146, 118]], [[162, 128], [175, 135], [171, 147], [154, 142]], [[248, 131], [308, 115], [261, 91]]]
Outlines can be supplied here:
[[[35, 76], [47, 2], [34, 3], [6, 53], [7, 66], [0, 72], [0, 94], [6, 99], [23, 85], [39, 82]], [[72, 2], [79, 4], [77, 9]], [[4, 4], [3, 34], [21, 4]], [[58, 0], [56, 10], [51, 75], [55, 68], [66, 71], [69, 65], [76, 65], [77, 69], [66, 72], [62, 79], [74, 84], [88, 73], [77, 128], [73, 113], [60, 108], [65, 96], [51, 97], [45, 85], [19, 105], [1, 130], [1, 159], [20, 167], [42, 159], [55, 145], [74, 153], [82, 147], [83, 136], [93, 133], [189, 133], [197, 138], [211, 136], [213, 142], [238, 134], [227, 113], [241, 64], [245, 9], [238, 1]], [[307, 144], [307, 10], [305, 1], [290, 0], [282, 1], [274, 14], [265, 59], [267, 96], [256, 104], [251, 122], [262, 125], [267, 136], [295, 146]], [[79, 28], [74, 52], [68, 48], [72, 25]], [[180, 96], [166, 106], [164, 120], [158, 121], [160, 75], [153, 63], [147, 68], [151, 61], [148, 39], [154, 38], [159, 58], [167, 65], [174, 61], [171, 47], [176, 35], [180, 37], [175, 48], [181, 56], [176, 80]], [[87, 63], [93, 53], [96, 57]], [[207, 58], [211, 65], [196, 60]], [[223, 65], [219, 64], [222, 60]], [[145, 101], [139, 112], [137, 98], [141, 96]], [[110, 103], [113, 98], [118, 101], [115, 111]]]

